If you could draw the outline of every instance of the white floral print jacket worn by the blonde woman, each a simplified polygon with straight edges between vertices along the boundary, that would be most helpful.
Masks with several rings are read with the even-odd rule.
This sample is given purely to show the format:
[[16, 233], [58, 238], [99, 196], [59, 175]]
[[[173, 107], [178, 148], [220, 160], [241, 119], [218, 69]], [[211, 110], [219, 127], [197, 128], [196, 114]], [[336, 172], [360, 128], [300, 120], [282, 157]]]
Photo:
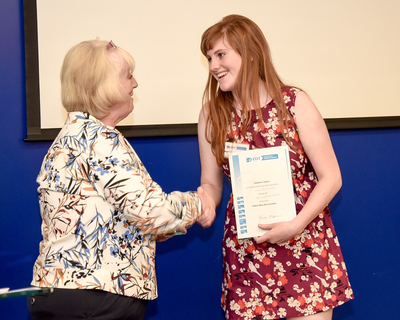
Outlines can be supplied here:
[[155, 235], [194, 223], [194, 192], [162, 192], [116, 129], [69, 112], [37, 180], [42, 217], [32, 285], [157, 296]]

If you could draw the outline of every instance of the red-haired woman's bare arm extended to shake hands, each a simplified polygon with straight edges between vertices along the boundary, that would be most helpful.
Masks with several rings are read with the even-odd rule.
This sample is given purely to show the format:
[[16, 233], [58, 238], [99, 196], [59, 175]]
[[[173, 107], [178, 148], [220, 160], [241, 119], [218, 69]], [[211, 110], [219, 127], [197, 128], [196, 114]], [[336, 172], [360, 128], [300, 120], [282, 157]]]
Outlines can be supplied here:
[[210, 143], [205, 139], [207, 114], [207, 108], [203, 106], [198, 117], [197, 126], [201, 162], [200, 185], [211, 198], [209, 205], [202, 206], [202, 214], [197, 219], [197, 223], [204, 228], [209, 227], [214, 221], [215, 208], [219, 204], [222, 195], [222, 170], [216, 163]]

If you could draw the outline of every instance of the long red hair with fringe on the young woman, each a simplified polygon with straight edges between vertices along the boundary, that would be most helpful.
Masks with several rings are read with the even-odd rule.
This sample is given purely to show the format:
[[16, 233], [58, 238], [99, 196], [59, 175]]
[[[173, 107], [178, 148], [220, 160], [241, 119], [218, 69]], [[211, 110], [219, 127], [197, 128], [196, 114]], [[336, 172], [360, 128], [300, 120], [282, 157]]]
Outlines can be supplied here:
[[[235, 83], [237, 99], [242, 110], [242, 127], [244, 132], [250, 125], [251, 109], [254, 107], [258, 121], [262, 121], [261, 106], [259, 105], [259, 79], [275, 102], [277, 116], [284, 140], [288, 145], [292, 143], [284, 133], [283, 128], [288, 128], [292, 123], [289, 111], [282, 97], [281, 88], [287, 86], [280, 79], [272, 63], [269, 46], [261, 29], [249, 18], [242, 15], [231, 14], [207, 28], [201, 36], [201, 52], [206, 55], [213, 45], [222, 39], [241, 56], [242, 64]], [[217, 163], [225, 162], [224, 143], [226, 130], [232, 129], [231, 107], [233, 94], [224, 92], [218, 86], [218, 81], [208, 74], [207, 84], [203, 94], [203, 104], [208, 105], [206, 119], [206, 140], [211, 143]]]

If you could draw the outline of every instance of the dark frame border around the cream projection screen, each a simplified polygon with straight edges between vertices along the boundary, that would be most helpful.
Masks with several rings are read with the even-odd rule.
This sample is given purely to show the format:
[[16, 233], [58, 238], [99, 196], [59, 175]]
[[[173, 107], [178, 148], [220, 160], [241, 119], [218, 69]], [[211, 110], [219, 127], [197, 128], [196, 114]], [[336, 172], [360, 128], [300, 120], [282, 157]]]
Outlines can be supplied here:
[[[25, 141], [53, 140], [60, 128], [40, 126], [40, 87], [37, 36], [36, 1], [23, 0], [26, 133]], [[326, 127], [332, 129], [362, 129], [400, 126], [400, 116], [325, 118]], [[196, 135], [197, 123], [121, 125], [117, 129], [125, 137]]]

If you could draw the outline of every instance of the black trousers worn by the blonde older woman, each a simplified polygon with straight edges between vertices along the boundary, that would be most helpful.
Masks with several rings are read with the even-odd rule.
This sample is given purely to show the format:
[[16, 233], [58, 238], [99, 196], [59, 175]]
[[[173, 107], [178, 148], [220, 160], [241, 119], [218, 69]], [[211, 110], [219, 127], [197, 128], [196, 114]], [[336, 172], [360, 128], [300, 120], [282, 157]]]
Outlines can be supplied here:
[[34, 320], [141, 320], [147, 300], [98, 289], [54, 289], [26, 299]]

